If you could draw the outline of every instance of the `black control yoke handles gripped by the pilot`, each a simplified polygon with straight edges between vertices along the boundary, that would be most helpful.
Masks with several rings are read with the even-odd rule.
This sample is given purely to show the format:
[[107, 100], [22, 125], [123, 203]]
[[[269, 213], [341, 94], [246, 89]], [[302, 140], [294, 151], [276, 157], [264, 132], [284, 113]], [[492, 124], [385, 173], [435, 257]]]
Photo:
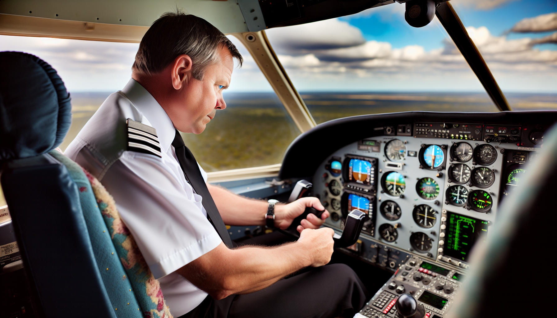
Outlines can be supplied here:
[[[323, 210], [325, 211], [325, 210]], [[316, 217], [320, 218], [323, 211], [319, 211], [313, 207], [306, 208], [304, 213], [300, 214], [297, 218], [292, 221], [292, 224], [286, 230], [280, 230], [282, 233], [287, 234], [288, 236], [300, 238], [300, 233], [296, 230], [296, 228], [300, 225], [302, 219], [307, 217], [307, 214], [313, 213]], [[340, 236], [339, 234], [334, 234], [333, 239], [335, 241], [335, 247], [347, 247], [353, 245], [358, 241], [360, 237], [361, 227], [364, 226], [364, 218], [366, 214], [359, 210], [352, 210], [346, 217], [346, 222], [344, 224], [343, 235]]]

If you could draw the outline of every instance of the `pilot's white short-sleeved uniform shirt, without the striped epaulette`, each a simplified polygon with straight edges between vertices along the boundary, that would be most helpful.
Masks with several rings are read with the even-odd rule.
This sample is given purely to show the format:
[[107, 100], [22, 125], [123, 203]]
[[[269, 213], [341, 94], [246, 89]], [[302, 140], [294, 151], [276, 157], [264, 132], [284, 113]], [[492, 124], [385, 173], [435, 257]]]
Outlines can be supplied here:
[[[162, 158], [127, 151], [126, 119], [157, 130]], [[160, 281], [170, 312], [181, 316], [207, 293], [175, 273], [222, 242], [201, 195], [185, 180], [174, 153], [175, 130], [157, 100], [130, 79], [111, 94], [65, 151], [113, 195], [120, 216]], [[199, 167], [201, 169], [201, 167]], [[207, 173], [201, 169], [203, 179]]]

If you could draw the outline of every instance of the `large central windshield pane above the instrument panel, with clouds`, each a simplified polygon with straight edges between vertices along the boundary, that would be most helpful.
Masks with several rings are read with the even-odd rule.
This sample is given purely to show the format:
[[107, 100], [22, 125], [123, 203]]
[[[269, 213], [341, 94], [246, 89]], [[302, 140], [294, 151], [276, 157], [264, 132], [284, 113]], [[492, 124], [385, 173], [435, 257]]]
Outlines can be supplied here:
[[408, 110], [498, 111], [437, 17], [414, 28], [404, 10], [393, 3], [266, 31], [317, 123]]

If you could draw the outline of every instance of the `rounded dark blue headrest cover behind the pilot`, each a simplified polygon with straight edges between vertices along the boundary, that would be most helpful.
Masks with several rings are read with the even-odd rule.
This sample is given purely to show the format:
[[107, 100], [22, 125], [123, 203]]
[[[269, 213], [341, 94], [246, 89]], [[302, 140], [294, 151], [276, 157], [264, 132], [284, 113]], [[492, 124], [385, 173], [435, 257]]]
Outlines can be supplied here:
[[71, 98], [56, 70], [23, 52], [0, 52], [0, 160], [56, 148], [71, 124]]

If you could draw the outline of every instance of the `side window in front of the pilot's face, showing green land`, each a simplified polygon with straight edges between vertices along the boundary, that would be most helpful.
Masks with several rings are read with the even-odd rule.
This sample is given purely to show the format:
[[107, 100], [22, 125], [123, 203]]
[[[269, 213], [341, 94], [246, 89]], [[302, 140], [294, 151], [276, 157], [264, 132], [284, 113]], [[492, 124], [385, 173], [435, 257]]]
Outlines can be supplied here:
[[245, 46], [228, 37], [244, 63], [234, 68], [224, 91], [226, 109], [217, 111], [203, 133], [182, 134], [185, 144], [207, 172], [281, 163], [300, 131]]

